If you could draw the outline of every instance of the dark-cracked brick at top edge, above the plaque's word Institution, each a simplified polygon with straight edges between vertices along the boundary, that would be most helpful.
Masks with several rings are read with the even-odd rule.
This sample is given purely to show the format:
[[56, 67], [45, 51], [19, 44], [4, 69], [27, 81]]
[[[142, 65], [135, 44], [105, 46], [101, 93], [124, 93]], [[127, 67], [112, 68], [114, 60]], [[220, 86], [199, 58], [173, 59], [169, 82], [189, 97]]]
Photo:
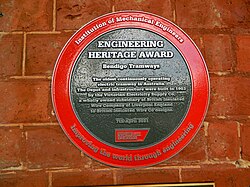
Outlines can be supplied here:
[[111, 0], [57, 1], [57, 29], [79, 29], [111, 10]]

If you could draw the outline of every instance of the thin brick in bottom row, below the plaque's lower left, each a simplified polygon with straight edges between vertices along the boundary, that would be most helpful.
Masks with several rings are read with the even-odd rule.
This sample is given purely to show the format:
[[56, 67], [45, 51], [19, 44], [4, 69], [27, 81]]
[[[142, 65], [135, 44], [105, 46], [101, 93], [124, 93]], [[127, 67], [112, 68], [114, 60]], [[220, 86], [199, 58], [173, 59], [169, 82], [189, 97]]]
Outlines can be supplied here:
[[53, 186], [94, 186], [112, 185], [113, 183], [111, 170], [64, 171], [52, 174]]

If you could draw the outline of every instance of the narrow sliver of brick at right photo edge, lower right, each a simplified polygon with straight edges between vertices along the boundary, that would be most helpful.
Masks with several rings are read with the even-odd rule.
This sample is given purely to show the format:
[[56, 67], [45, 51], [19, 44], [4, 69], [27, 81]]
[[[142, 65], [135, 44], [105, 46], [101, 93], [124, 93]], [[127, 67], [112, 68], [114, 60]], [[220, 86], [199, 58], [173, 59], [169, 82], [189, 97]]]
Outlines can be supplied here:
[[244, 122], [241, 125], [242, 158], [250, 161], [250, 123]]

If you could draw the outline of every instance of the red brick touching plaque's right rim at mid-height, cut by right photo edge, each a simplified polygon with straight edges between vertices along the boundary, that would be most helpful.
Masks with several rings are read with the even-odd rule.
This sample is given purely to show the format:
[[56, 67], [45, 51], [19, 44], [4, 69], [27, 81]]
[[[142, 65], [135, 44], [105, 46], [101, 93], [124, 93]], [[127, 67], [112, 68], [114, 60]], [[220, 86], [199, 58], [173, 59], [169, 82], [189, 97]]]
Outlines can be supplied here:
[[210, 77], [211, 95], [207, 116], [249, 116], [250, 78]]

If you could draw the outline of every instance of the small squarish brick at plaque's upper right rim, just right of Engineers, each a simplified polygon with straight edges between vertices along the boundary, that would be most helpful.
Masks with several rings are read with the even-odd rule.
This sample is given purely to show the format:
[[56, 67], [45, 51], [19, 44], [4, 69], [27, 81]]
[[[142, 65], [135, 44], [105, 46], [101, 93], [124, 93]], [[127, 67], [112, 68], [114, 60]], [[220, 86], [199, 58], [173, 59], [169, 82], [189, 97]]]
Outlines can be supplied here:
[[231, 71], [234, 58], [230, 36], [206, 34], [203, 41], [208, 70], [210, 72]]

